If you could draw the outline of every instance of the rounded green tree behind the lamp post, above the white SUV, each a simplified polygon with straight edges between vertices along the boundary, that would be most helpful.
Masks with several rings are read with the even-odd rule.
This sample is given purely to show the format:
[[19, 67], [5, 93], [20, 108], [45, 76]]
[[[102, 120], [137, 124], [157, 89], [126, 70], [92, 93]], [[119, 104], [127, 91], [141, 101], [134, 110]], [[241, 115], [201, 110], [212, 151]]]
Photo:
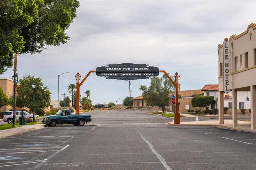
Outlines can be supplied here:
[[50, 105], [51, 92], [47, 87], [44, 87], [44, 82], [40, 77], [35, 78], [34, 76], [26, 75], [19, 82], [20, 84], [17, 86], [17, 107], [29, 108], [30, 111], [33, 111], [33, 82], [36, 83], [35, 109], [44, 109]]

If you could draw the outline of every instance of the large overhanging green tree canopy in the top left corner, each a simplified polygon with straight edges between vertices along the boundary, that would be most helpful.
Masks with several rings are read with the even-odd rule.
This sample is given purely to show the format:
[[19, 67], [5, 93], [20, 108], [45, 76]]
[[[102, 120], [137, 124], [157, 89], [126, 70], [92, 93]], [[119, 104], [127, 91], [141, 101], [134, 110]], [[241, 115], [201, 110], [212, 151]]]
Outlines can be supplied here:
[[0, 74], [12, 67], [14, 53], [65, 44], [78, 7], [78, 0], [0, 0]]

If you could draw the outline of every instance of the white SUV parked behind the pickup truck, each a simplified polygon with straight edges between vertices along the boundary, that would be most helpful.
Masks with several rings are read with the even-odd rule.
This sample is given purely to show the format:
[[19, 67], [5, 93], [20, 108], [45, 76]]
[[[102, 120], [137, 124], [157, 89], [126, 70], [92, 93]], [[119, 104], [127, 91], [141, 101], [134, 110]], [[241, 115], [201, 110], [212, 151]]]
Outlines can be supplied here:
[[[16, 120], [17, 120], [17, 123], [19, 122], [19, 117], [22, 116], [22, 111], [16, 111]], [[25, 119], [26, 118], [33, 118], [33, 115], [32, 114], [29, 114], [28, 112], [26, 111], [23, 111], [23, 116], [25, 116]], [[38, 115], [35, 114], [35, 120], [36, 120], [36, 117]], [[39, 117], [39, 116], [38, 116]], [[3, 113], [3, 122], [8, 122], [8, 123], [12, 123], [12, 120], [13, 120], [13, 111], [6, 111], [5, 113]]]

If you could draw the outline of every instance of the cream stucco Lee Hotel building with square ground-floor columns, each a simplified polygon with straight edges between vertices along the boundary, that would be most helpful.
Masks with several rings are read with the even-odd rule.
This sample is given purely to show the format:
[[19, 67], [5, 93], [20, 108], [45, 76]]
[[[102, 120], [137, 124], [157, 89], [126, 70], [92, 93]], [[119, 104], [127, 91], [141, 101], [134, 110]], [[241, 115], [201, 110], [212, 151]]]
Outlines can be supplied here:
[[249, 92], [251, 128], [256, 129], [256, 24], [218, 45], [219, 124], [224, 124], [224, 93], [232, 91], [233, 126], [237, 126], [238, 92]]

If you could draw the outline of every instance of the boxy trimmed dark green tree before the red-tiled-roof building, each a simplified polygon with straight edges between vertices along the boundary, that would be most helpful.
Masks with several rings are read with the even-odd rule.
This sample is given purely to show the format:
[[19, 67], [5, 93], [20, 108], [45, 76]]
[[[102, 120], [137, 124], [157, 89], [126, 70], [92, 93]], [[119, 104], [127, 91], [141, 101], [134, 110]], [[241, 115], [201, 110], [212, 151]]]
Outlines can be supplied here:
[[191, 99], [191, 104], [193, 107], [205, 107], [209, 110], [209, 106], [214, 102], [213, 96], [198, 96]]

